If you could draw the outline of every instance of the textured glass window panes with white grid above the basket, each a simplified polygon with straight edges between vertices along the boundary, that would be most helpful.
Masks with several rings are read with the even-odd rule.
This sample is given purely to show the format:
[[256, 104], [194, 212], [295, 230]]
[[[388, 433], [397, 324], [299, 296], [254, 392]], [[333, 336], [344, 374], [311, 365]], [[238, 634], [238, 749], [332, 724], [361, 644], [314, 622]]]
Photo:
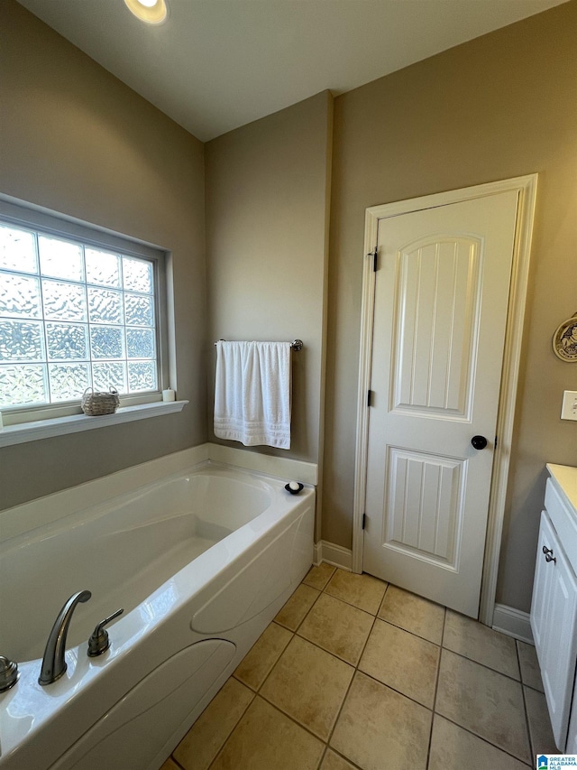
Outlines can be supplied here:
[[0, 409], [159, 387], [155, 262], [0, 220]]

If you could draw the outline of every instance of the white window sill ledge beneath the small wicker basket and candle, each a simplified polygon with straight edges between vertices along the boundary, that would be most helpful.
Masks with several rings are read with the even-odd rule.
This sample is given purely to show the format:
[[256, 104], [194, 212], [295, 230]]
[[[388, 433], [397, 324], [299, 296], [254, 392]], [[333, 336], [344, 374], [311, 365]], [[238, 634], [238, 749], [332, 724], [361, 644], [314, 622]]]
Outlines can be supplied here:
[[54, 417], [50, 420], [7, 425], [0, 429], [0, 447], [9, 447], [13, 444], [23, 444], [26, 441], [49, 439], [52, 436], [63, 436], [66, 433], [90, 431], [93, 428], [105, 428], [107, 425], [119, 425], [121, 422], [146, 420], [148, 417], [181, 412], [186, 404], [188, 401], [158, 401], [152, 404], [121, 406], [114, 414], [101, 414], [98, 417], [88, 417], [87, 414], [72, 414], [69, 417]]

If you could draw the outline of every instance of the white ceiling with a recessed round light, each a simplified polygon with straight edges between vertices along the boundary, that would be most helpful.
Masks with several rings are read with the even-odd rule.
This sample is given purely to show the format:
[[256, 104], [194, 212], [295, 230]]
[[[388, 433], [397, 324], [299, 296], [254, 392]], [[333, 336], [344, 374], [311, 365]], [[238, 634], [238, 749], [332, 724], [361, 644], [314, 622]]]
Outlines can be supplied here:
[[203, 142], [341, 94], [565, 0], [19, 0]]

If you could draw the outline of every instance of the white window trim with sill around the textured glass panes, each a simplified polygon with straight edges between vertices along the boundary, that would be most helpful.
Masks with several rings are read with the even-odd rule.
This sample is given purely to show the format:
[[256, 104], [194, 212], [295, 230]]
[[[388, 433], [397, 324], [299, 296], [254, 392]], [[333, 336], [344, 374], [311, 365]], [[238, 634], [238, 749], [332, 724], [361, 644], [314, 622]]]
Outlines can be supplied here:
[[[166, 268], [166, 260], [168, 259], [166, 250], [136, 238], [115, 233], [105, 227], [98, 227], [2, 193], [0, 193], [0, 214], [23, 227], [41, 227], [55, 235], [77, 237], [88, 243], [94, 242], [97, 246], [110, 246], [128, 255], [148, 257], [155, 262], [160, 376], [158, 392], [122, 394], [121, 406], [114, 414], [88, 417], [81, 413], [79, 401], [5, 407], [0, 413], [4, 415], [4, 428], [0, 427], [0, 447], [66, 433], [87, 431], [92, 428], [105, 427], [105, 425], [133, 422], [134, 420], [156, 417], [160, 414], [180, 412], [185, 404], [188, 404], [188, 401], [163, 402], [161, 393], [163, 389], [176, 387], [176, 382], [169, 383], [169, 371], [174, 371], [175, 366], [174, 362], [169, 362], [169, 319], [167, 317], [170, 305], [170, 298], [167, 293], [169, 282], [166, 269], [162, 269], [162, 267]], [[130, 248], [131, 243], [134, 244], [134, 249]]]

